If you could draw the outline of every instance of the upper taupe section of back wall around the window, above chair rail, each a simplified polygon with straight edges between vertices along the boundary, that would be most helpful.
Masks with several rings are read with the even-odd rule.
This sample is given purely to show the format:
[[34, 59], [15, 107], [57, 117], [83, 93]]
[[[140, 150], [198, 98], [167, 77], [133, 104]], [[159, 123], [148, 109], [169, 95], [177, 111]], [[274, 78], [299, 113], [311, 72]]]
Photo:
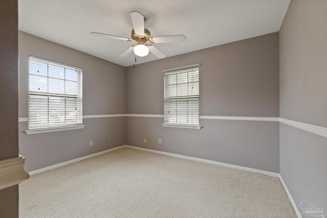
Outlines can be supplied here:
[[126, 68], [126, 112], [164, 114], [162, 70], [200, 65], [200, 115], [279, 116], [278, 33]]

